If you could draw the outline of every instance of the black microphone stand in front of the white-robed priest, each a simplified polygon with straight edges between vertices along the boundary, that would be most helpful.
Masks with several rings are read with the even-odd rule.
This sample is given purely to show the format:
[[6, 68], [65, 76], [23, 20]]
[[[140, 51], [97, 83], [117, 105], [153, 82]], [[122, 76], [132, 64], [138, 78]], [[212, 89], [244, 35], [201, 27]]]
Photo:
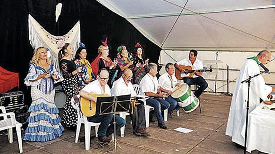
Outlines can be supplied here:
[[259, 74], [256, 74], [254, 75], [253, 77], [249, 76], [248, 79], [242, 81], [241, 83], [248, 83], [248, 95], [247, 95], [247, 105], [246, 105], [246, 124], [245, 124], [245, 138], [244, 138], [244, 154], [246, 154], [246, 142], [247, 142], [247, 127], [248, 127], [248, 111], [249, 111], [249, 89], [250, 89], [250, 82], [251, 82], [251, 79], [254, 78], [254, 77], [257, 77], [258, 75], [262, 74], [262, 73], [266, 73], [266, 71], [264, 72], [261, 72]]

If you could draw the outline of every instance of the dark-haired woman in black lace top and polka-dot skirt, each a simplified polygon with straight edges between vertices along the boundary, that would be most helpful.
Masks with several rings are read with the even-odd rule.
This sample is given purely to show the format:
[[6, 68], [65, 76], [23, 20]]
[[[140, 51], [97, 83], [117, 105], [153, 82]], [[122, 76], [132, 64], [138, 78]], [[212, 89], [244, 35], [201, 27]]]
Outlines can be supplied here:
[[63, 123], [66, 127], [75, 129], [77, 126], [77, 111], [71, 105], [71, 99], [78, 93], [78, 76], [82, 67], [76, 69], [76, 65], [72, 60], [73, 47], [66, 43], [58, 53], [59, 68], [63, 74], [62, 82], [63, 91], [66, 94], [66, 103], [63, 112]]

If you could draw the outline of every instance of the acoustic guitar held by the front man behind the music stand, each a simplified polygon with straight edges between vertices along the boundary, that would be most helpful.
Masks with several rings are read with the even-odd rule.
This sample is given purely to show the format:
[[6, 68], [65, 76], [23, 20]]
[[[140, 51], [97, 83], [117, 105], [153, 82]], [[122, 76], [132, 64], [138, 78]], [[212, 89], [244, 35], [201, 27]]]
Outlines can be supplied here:
[[[94, 97], [106, 97], [109, 96], [107, 94], [102, 94], [102, 95], [97, 95], [94, 93], [90, 93], [91, 96]], [[87, 117], [92, 117], [96, 114], [96, 107], [97, 107], [97, 103], [93, 100], [87, 100], [83, 97], [80, 97], [80, 110], [82, 112], [82, 114], [84, 114]]]

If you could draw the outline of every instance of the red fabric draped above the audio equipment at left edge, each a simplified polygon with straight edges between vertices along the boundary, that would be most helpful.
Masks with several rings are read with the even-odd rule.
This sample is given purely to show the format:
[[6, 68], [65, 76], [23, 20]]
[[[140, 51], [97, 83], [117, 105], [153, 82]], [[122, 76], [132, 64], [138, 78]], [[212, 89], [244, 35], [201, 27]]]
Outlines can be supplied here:
[[17, 86], [19, 89], [18, 73], [7, 71], [0, 66], [0, 93], [7, 92]]

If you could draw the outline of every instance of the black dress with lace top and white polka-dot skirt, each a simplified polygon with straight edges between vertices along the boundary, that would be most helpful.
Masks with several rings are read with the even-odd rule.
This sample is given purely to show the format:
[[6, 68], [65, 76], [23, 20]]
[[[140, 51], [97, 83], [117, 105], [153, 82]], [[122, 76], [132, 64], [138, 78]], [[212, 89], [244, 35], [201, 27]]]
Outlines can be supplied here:
[[62, 88], [66, 95], [66, 103], [63, 112], [63, 123], [66, 127], [77, 126], [77, 110], [71, 105], [71, 99], [78, 94], [77, 74], [73, 75], [76, 65], [72, 60], [62, 59], [60, 62], [61, 72], [63, 74]]

